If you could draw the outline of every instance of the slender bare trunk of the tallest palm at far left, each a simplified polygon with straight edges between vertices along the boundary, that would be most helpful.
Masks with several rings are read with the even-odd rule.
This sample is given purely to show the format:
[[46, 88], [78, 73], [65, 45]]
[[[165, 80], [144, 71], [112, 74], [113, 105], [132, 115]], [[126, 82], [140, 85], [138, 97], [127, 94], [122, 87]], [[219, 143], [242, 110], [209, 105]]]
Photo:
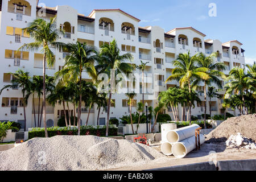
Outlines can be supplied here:
[[46, 126], [46, 53], [44, 53], [44, 60], [43, 60], [43, 120], [44, 120], [44, 131], [46, 133], [46, 138], [48, 138], [47, 126]]

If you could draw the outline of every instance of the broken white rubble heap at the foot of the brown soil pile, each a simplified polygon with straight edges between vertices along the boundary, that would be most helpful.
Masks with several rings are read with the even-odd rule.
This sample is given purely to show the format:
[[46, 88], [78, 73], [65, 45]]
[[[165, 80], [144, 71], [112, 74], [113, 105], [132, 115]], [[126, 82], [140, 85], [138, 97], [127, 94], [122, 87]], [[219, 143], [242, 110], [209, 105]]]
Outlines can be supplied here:
[[237, 135], [231, 135], [228, 140], [226, 140], [227, 147], [237, 147], [246, 149], [256, 149], [255, 143], [246, 137], [243, 137], [241, 133]]

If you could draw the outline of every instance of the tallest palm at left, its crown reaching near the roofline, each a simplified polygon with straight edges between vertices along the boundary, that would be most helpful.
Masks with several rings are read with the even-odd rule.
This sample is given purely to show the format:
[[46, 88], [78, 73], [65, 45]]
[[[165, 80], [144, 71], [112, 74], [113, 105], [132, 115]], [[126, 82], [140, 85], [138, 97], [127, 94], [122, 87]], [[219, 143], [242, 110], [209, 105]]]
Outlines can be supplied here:
[[49, 66], [55, 64], [55, 55], [50, 47], [59, 49], [64, 46], [63, 43], [56, 42], [64, 32], [56, 27], [56, 16], [51, 18], [49, 22], [44, 19], [35, 19], [28, 24], [28, 27], [23, 28], [23, 31], [30, 34], [35, 42], [24, 44], [19, 49], [38, 51], [42, 48], [41, 52], [43, 52], [43, 121], [46, 138], [48, 138], [46, 127], [46, 62]]

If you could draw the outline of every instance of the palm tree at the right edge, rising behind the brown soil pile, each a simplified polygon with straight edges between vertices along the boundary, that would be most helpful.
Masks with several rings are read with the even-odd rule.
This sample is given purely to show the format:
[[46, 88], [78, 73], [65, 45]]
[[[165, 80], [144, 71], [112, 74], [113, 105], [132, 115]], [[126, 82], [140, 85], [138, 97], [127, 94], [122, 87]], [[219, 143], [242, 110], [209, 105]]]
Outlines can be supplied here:
[[247, 115], [248, 110], [245, 105], [245, 94], [249, 93], [249, 90], [255, 93], [255, 79], [246, 74], [244, 68], [233, 68], [229, 73], [229, 77], [226, 78], [226, 81], [230, 82], [225, 85], [225, 99], [229, 98], [233, 92], [234, 94], [240, 95]]

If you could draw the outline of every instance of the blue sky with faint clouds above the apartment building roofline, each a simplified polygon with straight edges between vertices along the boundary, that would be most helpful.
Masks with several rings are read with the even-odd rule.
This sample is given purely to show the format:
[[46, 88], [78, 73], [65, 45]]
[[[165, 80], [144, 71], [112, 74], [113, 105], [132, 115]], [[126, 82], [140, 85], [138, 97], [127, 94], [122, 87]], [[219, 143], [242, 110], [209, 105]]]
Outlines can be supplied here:
[[[46, 6], [70, 5], [89, 15], [93, 9], [121, 9], [142, 21], [139, 26], [160, 26], [165, 31], [175, 27], [196, 28], [207, 34], [205, 39], [243, 43], [246, 63], [256, 61], [255, 0], [39, 0]], [[210, 17], [209, 4], [216, 3], [217, 16]]]

